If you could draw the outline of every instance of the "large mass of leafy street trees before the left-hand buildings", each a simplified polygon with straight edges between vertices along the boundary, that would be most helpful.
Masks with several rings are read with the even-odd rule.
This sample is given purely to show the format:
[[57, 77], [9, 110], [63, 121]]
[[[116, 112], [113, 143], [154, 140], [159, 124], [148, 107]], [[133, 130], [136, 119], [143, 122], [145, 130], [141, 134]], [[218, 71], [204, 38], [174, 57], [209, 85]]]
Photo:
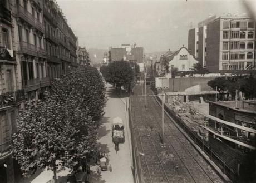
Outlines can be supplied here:
[[56, 78], [43, 100], [31, 101], [17, 118], [13, 157], [23, 175], [37, 169], [56, 172], [86, 168], [97, 155], [97, 127], [106, 103], [105, 84], [86, 66]]

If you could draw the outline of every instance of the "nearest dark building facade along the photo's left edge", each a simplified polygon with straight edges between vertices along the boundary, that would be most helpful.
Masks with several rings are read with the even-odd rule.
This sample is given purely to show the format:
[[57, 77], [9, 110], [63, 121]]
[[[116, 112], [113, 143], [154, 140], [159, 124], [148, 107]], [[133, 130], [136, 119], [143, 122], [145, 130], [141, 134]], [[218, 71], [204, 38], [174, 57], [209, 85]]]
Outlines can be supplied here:
[[[0, 182], [13, 183], [17, 162], [12, 159], [12, 133], [16, 132], [16, 116], [25, 100], [21, 67], [16, 61], [14, 40], [15, 4], [0, 1]], [[16, 174], [17, 175], [17, 174]]]

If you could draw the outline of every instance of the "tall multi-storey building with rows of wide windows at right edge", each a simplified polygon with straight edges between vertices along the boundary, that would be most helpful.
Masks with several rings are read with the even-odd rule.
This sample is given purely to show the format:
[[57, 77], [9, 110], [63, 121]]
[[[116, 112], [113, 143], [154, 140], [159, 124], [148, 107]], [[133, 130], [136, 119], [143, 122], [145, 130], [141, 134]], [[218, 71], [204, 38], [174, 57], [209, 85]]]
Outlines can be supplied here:
[[207, 26], [207, 68], [210, 72], [244, 73], [255, 65], [255, 23], [230, 14]]

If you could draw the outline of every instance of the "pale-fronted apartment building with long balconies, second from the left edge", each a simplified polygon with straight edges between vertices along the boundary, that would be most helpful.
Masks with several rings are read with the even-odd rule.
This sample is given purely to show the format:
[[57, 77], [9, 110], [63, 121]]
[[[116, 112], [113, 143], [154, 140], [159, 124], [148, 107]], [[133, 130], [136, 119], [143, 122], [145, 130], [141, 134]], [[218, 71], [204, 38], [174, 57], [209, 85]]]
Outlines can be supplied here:
[[50, 84], [46, 72], [42, 2], [17, 0], [15, 3], [14, 47], [18, 68], [21, 68], [21, 83], [28, 100], [37, 100]]

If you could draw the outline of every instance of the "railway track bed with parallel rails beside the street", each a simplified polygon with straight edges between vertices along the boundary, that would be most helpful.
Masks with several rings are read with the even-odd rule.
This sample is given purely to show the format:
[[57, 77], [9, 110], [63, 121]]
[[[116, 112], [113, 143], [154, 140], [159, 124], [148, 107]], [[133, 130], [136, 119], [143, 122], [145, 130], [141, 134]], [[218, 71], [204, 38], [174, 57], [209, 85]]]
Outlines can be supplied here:
[[145, 182], [223, 182], [194, 149], [186, 137], [176, 128], [168, 116], [164, 116], [164, 146], [160, 143], [161, 110], [153, 97], [144, 97], [140, 87], [134, 87], [131, 96], [131, 114], [135, 123], [135, 135], [139, 136], [144, 152]]

